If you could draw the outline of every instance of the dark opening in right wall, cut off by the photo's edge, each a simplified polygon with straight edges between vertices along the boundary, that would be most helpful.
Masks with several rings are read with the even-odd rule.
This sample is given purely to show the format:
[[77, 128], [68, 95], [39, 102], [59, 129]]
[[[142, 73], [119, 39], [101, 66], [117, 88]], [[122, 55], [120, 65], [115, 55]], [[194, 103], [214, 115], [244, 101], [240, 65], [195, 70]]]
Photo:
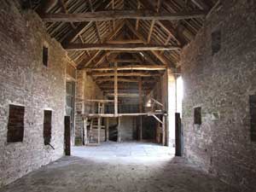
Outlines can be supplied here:
[[251, 115], [251, 139], [256, 142], [256, 95], [249, 97]]

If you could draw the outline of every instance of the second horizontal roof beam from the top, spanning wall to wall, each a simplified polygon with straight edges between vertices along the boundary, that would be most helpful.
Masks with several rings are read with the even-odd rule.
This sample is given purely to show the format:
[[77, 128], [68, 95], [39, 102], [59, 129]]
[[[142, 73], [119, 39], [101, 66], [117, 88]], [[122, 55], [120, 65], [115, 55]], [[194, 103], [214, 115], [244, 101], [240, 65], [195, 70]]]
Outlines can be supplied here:
[[155, 44], [68, 44], [67, 50], [177, 50], [180, 47]]

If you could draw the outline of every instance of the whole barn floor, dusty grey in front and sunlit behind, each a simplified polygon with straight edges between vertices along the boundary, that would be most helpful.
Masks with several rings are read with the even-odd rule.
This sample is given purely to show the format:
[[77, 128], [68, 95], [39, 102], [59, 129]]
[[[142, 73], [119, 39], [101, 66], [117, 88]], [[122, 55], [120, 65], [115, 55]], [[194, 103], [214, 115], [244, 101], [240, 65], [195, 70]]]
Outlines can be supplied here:
[[150, 143], [76, 147], [63, 157], [11, 183], [1, 192], [236, 192], [208, 176], [173, 148]]

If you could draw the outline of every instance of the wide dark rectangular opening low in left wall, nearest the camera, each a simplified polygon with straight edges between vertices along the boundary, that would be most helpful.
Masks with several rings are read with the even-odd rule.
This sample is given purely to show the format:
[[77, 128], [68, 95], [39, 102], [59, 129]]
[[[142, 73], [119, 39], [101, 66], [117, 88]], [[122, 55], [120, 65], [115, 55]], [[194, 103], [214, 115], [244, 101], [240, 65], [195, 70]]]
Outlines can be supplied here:
[[7, 142], [23, 142], [25, 107], [9, 105]]

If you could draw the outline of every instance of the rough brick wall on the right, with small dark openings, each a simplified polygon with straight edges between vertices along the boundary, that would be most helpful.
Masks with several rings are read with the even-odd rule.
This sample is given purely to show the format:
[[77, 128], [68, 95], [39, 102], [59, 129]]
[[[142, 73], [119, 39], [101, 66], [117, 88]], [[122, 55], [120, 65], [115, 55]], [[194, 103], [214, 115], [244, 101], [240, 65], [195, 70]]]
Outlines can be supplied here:
[[[222, 1], [181, 61], [185, 156], [241, 191], [256, 191], [249, 110], [256, 94], [255, 9], [255, 1]], [[201, 125], [194, 125], [195, 107], [201, 107]]]

